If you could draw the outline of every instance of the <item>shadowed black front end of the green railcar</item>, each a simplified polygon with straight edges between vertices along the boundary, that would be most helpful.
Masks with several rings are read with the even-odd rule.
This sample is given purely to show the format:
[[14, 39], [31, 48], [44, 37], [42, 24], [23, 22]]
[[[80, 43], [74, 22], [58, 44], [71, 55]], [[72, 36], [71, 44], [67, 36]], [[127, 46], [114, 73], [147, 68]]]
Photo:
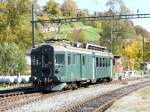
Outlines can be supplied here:
[[42, 45], [32, 50], [30, 81], [34, 87], [50, 90], [61, 89], [62, 85], [59, 83], [59, 77], [55, 75], [55, 72], [57, 74], [59, 71], [55, 71], [54, 58], [53, 46]]

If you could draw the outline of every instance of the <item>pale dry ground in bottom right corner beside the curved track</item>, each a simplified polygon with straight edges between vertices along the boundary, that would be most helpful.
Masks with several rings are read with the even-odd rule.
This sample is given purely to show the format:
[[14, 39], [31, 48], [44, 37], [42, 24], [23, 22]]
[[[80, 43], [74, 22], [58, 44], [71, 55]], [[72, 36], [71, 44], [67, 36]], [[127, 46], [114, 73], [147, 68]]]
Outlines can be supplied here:
[[150, 112], [150, 87], [145, 87], [116, 101], [106, 112]]

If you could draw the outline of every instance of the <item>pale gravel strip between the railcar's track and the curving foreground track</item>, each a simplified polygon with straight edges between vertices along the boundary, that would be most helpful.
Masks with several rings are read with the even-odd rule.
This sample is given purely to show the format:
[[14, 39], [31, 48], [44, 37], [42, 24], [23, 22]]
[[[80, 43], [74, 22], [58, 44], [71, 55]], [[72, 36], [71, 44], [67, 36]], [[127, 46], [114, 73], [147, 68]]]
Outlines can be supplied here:
[[[140, 81], [144, 80], [148, 79], [142, 79]], [[80, 102], [89, 97], [97, 96], [123, 86], [128, 86], [129, 84], [138, 83], [140, 81], [130, 81], [128, 84], [101, 84], [99, 86], [74, 90], [59, 96], [52, 96], [44, 100], [26, 104], [12, 110], [8, 110], [7, 112], [53, 112], [57, 109], [63, 108], [65, 106], [67, 107], [70, 104]]]

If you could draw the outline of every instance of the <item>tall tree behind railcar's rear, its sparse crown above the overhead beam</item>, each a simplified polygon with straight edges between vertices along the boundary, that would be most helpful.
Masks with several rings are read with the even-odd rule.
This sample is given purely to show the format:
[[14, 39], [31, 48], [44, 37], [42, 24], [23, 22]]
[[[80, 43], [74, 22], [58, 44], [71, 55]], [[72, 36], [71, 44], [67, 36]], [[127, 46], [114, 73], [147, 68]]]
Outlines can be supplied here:
[[[109, 11], [104, 13], [104, 15], [113, 16], [130, 12], [122, 0], [108, 0], [106, 6], [109, 7]], [[125, 40], [136, 37], [134, 25], [129, 20], [102, 21], [102, 29], [101, 44], [110, 48], [110, 35], [112, 32], [112, 50], [116, 55], [121, 55]]]

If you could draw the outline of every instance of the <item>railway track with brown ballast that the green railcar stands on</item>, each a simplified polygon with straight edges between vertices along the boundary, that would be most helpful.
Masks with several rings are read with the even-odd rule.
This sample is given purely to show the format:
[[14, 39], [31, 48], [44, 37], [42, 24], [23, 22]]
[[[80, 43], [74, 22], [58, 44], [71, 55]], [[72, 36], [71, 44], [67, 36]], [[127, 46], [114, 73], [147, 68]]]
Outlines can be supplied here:
[[[132, 80], [138, 80], [138, 79], [139, 78], [135, 78]], [[125, 81], [127, 81], [127, 79], [123, 80], [123, 82]], [[120, 81], [112, 81], [111, 83], [119, 83], [119, 82]], [[92, 85], [92, 86], [97, 86], [97, 85]], [[82, 88], [79, 88], [79, 89], [82, 89]], [[22, 90], [17, 89], [17, 90], [13, 90], [12, 92], [8, 90], [8, 91], [3, 92], [3, 94], [0, 94], [0, 112], [4, 112], [10, 109], [13, 109], [15, 107], [18, 107], [18, 106], [29, 104], [31, 102], [36, 102], [36, 101], [39, 101], [39, 100], [42, 100], [51, 96], [65, 94], [65, 93], [68, 93], [69, 91], [72, 91], [72, 90], [43, 94], [42, 92], [33, 90], [33, 88], [28, 88], [28, 89], [24, 88]], [[70, 111], [70, 109], [67, 109], [67, 111]]]

